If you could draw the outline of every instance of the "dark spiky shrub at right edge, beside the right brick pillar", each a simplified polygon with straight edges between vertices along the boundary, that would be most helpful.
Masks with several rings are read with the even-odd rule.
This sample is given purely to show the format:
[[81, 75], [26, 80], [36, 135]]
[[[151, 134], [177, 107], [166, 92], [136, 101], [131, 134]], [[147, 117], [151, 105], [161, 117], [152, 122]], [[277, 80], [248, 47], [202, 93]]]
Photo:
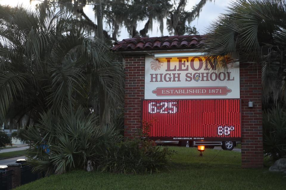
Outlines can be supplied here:
[[277, 105], [263, 113], [263, 149], [265, 156], [286, 156], [286, 110]]

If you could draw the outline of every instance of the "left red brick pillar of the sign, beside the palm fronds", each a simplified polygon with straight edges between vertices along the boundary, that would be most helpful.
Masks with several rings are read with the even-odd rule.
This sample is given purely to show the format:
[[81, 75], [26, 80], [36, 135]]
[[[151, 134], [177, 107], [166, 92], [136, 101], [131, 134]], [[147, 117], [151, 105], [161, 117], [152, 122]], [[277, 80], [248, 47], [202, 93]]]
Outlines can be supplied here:
[[141, 129], [144, 99], [145, 56], [125, 56], [124, 137], [133, 138]]

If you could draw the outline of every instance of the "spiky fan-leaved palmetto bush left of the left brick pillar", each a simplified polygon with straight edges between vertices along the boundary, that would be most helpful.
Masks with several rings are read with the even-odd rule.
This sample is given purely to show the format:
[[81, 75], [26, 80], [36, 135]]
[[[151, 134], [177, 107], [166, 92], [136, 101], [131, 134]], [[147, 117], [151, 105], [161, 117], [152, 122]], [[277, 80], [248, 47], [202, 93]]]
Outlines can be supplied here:
[[118, 141], [114, 126], [102, 127], [98, 117], [84, 112], [63, 110], [60, 115], [48, 111], [26, 138], [30, 142], [28, 158], [37, 171], [61, 174], [73, 169], [94, 170], [104, 142]]

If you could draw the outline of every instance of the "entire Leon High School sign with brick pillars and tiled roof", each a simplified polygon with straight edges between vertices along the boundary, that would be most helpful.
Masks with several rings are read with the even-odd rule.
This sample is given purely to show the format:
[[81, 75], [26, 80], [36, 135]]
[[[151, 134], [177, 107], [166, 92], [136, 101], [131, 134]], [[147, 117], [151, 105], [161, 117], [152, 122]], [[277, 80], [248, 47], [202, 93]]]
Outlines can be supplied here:
[[263, 167], [261, 67], [230, 61], [220, 69], [198, 53], [201, 41], [115, 42], [111, 51], [125, 65], [124, 136], [136, 137], [147, 124], [154, 140], [240, 140], [242, 167]]

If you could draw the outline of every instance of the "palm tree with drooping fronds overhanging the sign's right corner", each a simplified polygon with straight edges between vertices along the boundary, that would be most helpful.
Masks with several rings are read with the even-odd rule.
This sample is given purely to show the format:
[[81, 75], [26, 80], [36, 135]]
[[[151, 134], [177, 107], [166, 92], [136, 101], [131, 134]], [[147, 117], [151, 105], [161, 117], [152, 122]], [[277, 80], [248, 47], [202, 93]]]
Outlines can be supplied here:
[[285, 101], [285, 0], [238, 0], [228, 8], [208, 27], [200, 48], [214, 58], [231, 55], [241, 62], [262, 64], [264, 106], [270, 98]]

